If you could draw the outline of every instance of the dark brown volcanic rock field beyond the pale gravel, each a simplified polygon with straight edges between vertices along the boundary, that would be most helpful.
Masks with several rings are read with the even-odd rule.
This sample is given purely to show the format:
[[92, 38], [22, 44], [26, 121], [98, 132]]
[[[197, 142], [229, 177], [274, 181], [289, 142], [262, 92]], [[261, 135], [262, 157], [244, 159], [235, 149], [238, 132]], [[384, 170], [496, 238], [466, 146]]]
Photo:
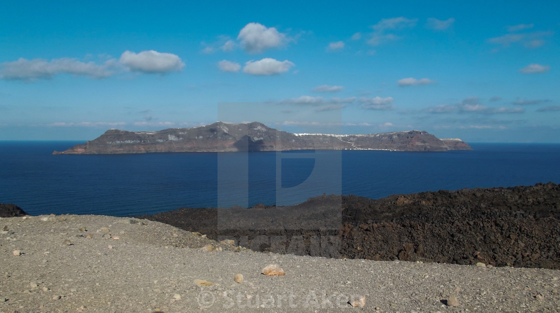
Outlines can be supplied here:
[[379, 200], [331, 195], [287, 207], [180, 208], [142, 217], [276, 253], [560, 268], [554, 183]]

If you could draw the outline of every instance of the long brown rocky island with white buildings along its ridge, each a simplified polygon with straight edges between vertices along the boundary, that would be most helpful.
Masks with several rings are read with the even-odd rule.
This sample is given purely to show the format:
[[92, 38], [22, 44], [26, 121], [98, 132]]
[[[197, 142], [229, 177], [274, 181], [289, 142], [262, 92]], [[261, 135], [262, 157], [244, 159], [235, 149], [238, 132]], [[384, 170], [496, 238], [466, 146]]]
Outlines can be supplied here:
[[446, 144], [426, 131], [367, 135], [291, 134], [259, 122], [211, 125], [161, 131], [111, 129], [94, 140], [53, 154], [123, 154], [156, 152], [225, 152], [283, 150], [470, 150], [461, 140]]

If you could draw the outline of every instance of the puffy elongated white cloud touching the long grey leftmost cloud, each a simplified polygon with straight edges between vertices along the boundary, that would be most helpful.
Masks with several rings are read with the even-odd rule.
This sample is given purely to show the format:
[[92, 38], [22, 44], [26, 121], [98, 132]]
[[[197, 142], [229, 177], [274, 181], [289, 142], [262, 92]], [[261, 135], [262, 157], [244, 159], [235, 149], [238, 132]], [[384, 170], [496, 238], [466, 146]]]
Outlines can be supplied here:
[[142, 73], [167, 73], [180, 72], [185, 66], [181, 58], [171, 53], [159, 53], [154, 50], [134, 53], [124, 51], [120, 56], [119, 62], [130, 70]]

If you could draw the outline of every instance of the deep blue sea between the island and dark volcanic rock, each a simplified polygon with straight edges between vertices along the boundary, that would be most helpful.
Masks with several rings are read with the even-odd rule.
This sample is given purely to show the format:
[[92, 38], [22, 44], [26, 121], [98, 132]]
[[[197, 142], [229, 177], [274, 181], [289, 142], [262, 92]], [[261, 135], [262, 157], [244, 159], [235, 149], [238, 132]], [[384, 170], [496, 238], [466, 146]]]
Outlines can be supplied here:
[[31, 215], [134, 216], [179, 207], [288, 205], [323, 193], [381, 198], [560, 183], [558, 144], [472, 151], [52, 155], [75, 141], [0, 141], [0, 203]]

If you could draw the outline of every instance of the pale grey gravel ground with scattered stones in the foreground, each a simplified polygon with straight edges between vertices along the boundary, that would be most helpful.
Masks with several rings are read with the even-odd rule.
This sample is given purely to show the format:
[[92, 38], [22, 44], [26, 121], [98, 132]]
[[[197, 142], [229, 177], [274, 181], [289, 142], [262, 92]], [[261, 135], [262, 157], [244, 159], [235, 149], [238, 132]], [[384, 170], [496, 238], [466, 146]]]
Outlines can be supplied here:
[[[8, 217], [2, 229], [0, 312], [560, 310], [550, 269], [255, 253], [111, 216]], [[273, 263], [286, 275], [261, 273]], [[348, 303], [361, 296], [365, 306]]]

